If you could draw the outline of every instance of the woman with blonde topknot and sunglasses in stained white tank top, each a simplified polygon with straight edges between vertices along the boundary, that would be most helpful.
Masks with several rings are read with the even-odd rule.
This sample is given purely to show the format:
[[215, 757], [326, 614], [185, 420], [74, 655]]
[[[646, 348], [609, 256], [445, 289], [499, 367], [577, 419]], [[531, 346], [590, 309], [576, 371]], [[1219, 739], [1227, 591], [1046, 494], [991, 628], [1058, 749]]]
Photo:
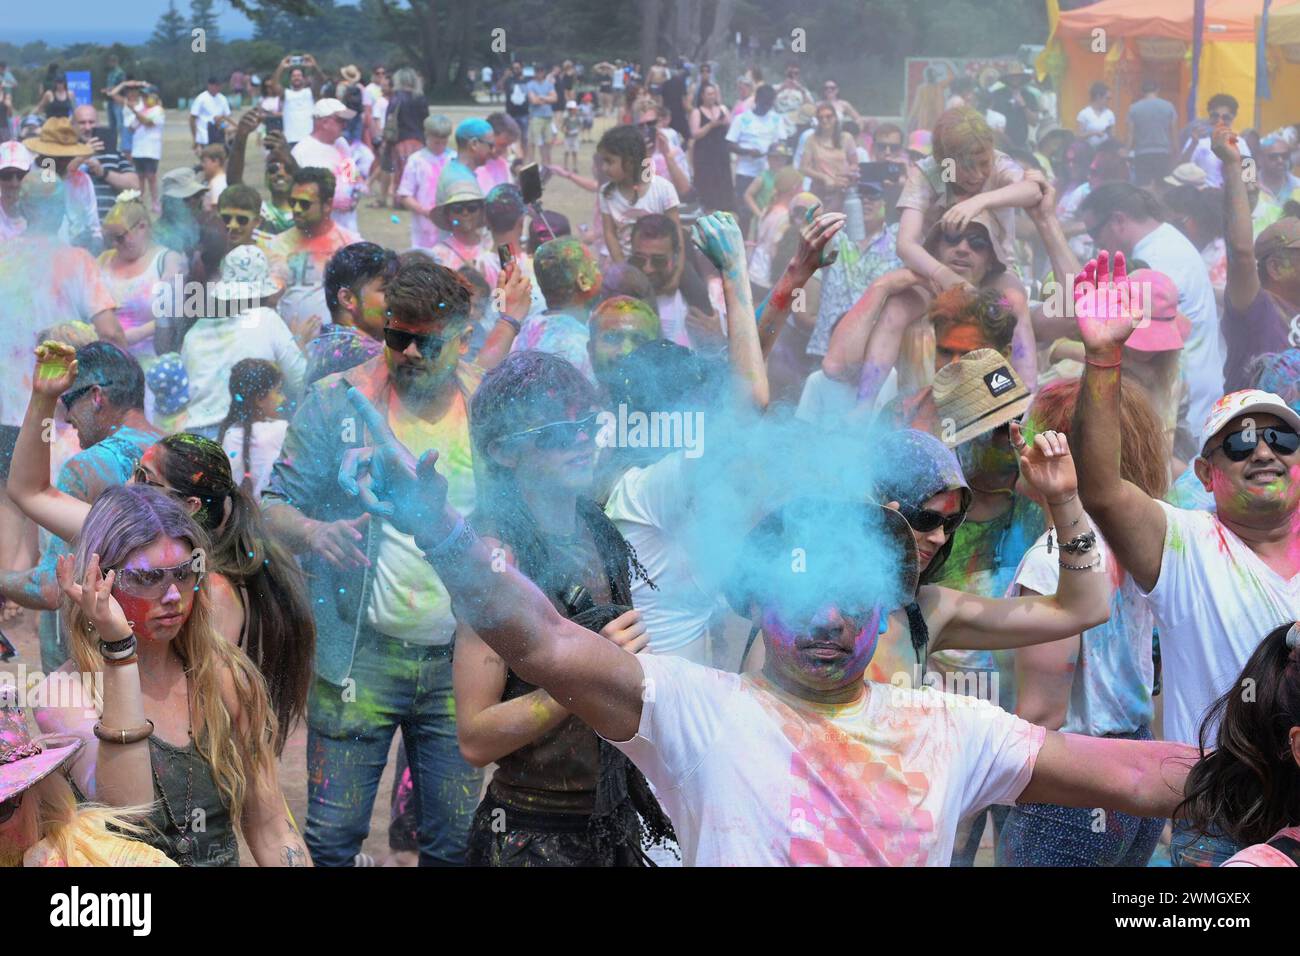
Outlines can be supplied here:
[[148, 363], [153, 350], [157, 289], [170, 287], [185, 269], [185, 256], [153, 239], [153, 226], [144, 199], [124, 190], [104, 216], [104, 251], [99, 271], [108, 294], [117, 303], [117, 321], [127, 347]]

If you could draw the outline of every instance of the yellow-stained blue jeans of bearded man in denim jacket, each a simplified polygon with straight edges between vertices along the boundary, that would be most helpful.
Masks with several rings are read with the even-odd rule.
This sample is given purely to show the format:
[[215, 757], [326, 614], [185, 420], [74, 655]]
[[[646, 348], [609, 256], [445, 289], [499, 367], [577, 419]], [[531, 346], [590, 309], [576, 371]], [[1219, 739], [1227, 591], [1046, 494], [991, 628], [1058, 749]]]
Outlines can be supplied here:
[[307, 708], [307, 848], [317, 866], [351, 866], [402, 728], [421, 866], [460, 866], [482, 771], [456, 743], [451, 648], [363, 631], [350, 683], [316, 680]]

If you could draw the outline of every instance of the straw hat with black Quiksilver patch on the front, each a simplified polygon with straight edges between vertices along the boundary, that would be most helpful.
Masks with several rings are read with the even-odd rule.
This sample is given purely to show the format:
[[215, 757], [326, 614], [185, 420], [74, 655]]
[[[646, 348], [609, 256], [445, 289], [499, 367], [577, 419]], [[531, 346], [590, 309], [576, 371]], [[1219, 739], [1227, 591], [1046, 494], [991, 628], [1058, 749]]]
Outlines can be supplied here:
[[1030, 390], [998, 351], [976, 349], [935, 372], [940, 437], [952, 446], [1005, 425], [1030, 407]]

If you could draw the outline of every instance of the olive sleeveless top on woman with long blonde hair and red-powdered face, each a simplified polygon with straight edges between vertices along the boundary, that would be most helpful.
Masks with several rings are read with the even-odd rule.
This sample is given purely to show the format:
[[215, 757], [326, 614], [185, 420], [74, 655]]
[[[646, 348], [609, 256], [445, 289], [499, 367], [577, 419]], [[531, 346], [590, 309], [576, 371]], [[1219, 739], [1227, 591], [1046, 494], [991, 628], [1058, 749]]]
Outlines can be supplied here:
[[156, 803], [148, 822], [153, 831], [142, 839], [181, 866], [238, 866], [234, 821], [212, 777], [212, 765], [194, 741], [177, 747], [155, 734], [150, 737], [150, 763]]

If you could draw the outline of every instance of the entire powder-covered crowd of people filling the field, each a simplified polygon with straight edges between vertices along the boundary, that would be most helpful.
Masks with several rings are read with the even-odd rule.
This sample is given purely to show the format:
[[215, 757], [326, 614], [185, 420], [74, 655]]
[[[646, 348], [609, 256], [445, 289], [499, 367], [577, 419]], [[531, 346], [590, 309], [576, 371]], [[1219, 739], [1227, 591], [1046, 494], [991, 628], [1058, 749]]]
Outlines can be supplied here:
[[1296, 865], [1296, 127], [801, 62], [515, 60], [454, 122], [290, 55], [161, 174], [153, 87], [52, 75], [0, 142], [0, 860], [374, 865], [382, 797], [420, 865]]

